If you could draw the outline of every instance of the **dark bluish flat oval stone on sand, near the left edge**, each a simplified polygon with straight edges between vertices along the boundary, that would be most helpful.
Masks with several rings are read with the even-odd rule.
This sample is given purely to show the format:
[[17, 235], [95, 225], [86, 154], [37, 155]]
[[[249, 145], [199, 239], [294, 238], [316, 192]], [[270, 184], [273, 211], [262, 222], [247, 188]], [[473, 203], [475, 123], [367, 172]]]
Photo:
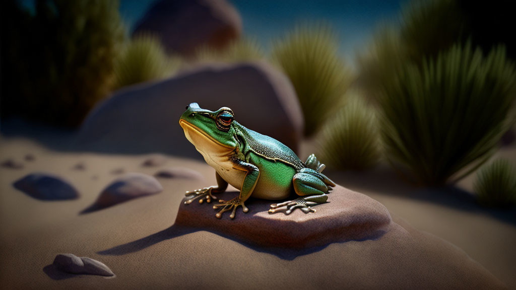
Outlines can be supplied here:
[[39, 200], [68, 200], [79, 197], [77, 190], [58, 176], [31, 173], [14, 182], [13, 186]]

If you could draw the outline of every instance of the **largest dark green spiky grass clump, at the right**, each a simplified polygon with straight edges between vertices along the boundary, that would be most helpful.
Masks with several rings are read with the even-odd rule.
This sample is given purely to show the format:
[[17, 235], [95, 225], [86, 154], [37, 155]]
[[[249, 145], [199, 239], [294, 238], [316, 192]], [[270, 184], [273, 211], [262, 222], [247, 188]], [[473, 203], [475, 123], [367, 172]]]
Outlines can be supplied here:
[[386, 155], [430, 185], [481, 165], [510, 125], [515, 80], [503, 47], [483, 57], [454, 46], [421, 67], [407, 63], [379, 99]]

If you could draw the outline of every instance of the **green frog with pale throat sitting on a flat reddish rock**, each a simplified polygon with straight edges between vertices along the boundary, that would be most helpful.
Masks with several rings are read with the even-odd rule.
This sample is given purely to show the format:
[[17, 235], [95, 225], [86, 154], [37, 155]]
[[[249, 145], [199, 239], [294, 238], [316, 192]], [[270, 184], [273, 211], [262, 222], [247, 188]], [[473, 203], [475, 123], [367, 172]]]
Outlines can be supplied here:
[[327, 203], [328, 194], [335, 186], [322, 170], [314, 154], [306, 162], [280, 141], [252, 131], [235, 120], [229, 107], [216, 111], [202, 109], [197, 103], [190, 103], [179, 120], [185, 137], [204, 157], [205, 162], [215, 169], [217, 185], [186, 191], [186, 205], [216, 201], [216, 194], [224, 192], [228, 184], [238, 189], [234, 199], [218, 200], [213, 205], [217, 218], [229, 212], [235, 217], [237, 207], [249, 212], [245, 202], [253, 198], [265, 200], [286, 200], [270, 205], [269, 214], [283, 212], [291, 214], [299, 208], [305, 214], [315, 213], [316, 205]]

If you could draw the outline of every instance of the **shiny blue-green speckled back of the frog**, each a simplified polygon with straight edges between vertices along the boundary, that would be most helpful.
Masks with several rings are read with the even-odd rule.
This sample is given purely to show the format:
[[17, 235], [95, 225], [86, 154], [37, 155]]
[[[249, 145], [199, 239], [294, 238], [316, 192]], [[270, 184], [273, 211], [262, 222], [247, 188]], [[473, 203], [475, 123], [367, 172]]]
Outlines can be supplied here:
[[289, 164], [296, 170], [305, 167], [299, 157], [297, 157], [296, 153], [294, 153], [292, 149], [285, 146], [285, 144], [272, 137], [249, 130], [237, 122], [233, 123], [236, 123], [235, 125], [239, 129], [238, 131], [241, 135], [244, 136], [249, 148], [254, 153], [267, 159], [281, 161], [283, 163]]

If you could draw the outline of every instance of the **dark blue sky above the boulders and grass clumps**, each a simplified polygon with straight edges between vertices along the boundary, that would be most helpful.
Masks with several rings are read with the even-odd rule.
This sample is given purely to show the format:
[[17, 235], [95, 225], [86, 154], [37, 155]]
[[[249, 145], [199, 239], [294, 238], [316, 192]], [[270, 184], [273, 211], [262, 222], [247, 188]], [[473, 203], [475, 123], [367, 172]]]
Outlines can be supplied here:
[[[29, 7], [34, 3], [34, 0], [21, 1]], [[120, 0], [120, 13], [132, 27], [154, 1]], [[347, 57], [363, 49], [382, 21], [397, 21], [401, 7], [408, 1], [229, 0], [243, 20], [244, 35], [256, 38], [265, 49], [297, 22], [323, 20], [340, 35], [341, 51]]]

